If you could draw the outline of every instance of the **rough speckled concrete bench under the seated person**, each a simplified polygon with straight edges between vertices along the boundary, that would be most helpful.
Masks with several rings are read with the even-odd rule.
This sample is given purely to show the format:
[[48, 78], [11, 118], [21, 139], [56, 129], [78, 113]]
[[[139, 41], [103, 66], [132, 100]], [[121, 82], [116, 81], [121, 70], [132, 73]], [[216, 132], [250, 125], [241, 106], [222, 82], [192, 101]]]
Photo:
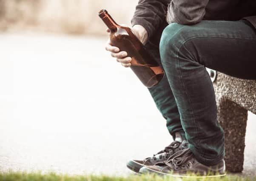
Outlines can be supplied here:
[[242, 172], [247, 111], [256, 114], [256, 81], [217, 72], [213, 86], [218, 119], [225, 131], [226, 170]]

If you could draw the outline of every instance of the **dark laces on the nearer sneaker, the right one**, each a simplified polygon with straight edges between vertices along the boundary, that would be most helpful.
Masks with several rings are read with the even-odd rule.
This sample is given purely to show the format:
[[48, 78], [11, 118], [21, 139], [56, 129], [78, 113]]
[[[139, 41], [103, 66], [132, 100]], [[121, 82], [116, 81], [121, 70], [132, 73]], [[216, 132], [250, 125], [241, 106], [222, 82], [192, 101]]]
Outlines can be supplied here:
[[171, 168], [178, 168], [182, 167], [188, 160], [193, 158], [192, 151], [188, 149], [179, 150], [178, 152], [174, 153], [167, 161], [164, 163]]

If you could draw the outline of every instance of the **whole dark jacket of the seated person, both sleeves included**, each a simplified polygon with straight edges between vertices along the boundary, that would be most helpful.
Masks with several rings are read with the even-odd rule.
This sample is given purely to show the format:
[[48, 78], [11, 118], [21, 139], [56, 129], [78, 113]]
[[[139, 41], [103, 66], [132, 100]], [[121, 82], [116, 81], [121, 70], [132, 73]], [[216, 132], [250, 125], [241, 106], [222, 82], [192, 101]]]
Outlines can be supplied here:
[[256, 0], [139, 0], [131, 24], [142, 25], [150, 38], [166, 21], [191, 25], [201, 20], [244, 17], [256, 27]]

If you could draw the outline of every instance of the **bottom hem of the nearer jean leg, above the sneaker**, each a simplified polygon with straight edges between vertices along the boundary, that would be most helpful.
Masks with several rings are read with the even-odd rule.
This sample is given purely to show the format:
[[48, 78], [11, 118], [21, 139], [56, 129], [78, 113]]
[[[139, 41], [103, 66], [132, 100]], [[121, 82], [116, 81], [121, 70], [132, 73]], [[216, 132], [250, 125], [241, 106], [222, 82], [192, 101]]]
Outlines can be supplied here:
[[194, 156], [196, 157], [196, 160], [199, 163], [207, 166], [218, 164], [222, 159], [224, 159], [224, 156], [225, 156], [225, 150], [223, 150], [222, 153], [219, 156], [217, 156], [215, 159], [207, 159], [203, 155], [201, 155], [201, 153], [197, 152], [196, 148], [193, 145], [189, 144], [188, 148], [191, 149], [192, 153], [194, 154]]

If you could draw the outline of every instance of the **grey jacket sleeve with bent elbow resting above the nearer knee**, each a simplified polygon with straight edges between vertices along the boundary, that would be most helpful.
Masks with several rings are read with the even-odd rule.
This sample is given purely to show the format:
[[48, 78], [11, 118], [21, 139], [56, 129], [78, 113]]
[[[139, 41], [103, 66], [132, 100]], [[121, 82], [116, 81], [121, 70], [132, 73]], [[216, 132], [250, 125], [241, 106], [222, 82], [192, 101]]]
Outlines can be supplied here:
[[191, 25], [200, 22], [205, 16], [205, 7], [209, 0], [171, 0], [166, 20]]

